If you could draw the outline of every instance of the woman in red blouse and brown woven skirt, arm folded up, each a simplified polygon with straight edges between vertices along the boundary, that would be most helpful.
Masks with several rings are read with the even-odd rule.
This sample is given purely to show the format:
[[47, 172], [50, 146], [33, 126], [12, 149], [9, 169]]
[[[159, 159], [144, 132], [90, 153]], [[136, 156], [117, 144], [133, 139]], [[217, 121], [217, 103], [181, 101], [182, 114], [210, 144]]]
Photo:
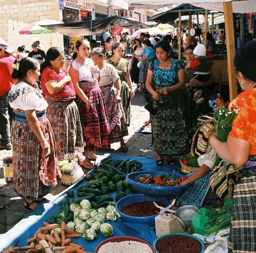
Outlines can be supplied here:
[[58, 159], [67, 154], [79, 156], [85, 168], [93, 165], [84, 159], [83, 133], [79, 111], [75, 102], [76, 91], [71, 77], [64, 70], [65, 55], [61, 48], [49, 48], [47, 60], [41, 66], [41, 88], [48, 102], [47, 118], [52, 125]]

